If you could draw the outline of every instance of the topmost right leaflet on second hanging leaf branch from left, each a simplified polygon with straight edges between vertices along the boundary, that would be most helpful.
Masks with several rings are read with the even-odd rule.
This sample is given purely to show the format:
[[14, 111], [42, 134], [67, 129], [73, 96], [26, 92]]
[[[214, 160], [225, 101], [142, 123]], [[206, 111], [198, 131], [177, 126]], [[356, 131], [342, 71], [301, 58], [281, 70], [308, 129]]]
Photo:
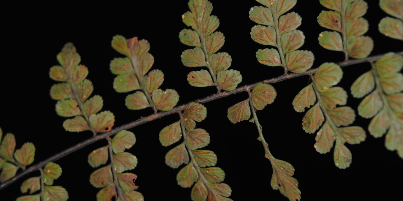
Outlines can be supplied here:
[[127, 130], [119, 131], [112, 138], [112, 150], [115, 154], [131, 148], [136, 143], [136, 136]]

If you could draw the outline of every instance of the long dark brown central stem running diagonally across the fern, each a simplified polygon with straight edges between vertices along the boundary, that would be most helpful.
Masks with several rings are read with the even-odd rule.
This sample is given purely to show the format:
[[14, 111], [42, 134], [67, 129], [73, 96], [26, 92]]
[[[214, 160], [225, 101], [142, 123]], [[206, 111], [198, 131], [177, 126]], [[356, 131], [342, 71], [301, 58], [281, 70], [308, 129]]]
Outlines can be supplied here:
[[[403, 51], [397, 52], [397, 54], [403, 55]], [[383, 54], [382, 55], [375, 55], [375, 56], [367, 57], [367, 58], [364, 58], [364, 59], [347, 60], [347, 61], [344, 61], [344, 62], [339, 62], [338, 65], [339, 66], [350, 66], [350, 65], [353, 65], [353, 64], [360, 64], [360, 63], [364, 63], [364, 62], [374, 61], [376, 59], [379, 59], [382, 56], [383, 56]], [[290, 73], [290, 74], [278, 76], [278, 77], [275, 77], [275, 78], [271, 78], [271, 79], [268, 79], [268, 80], [262, 80], [260, 82], [267, 83], [267, 84], [272, 84], [272, 83], [281, 82], [281, 81], [284, 81], [284, 80], [289, 80], [289, 79], [292, 79], [292, 78], [301, 77], [301, 76], [304, 76], [304, 75], [313, 74], [313, 73], [316, 72], [316, 70], [318, 70], [318, 69], [313, 68], [313, 69], [307, 70], [306, 72], [303, 72], [303, 73]], [[237, 94], [239, 92], [245, 92], [245, 91], [251, 90], [258, 83], [259, 82], [256, 82], [256, 83], [253, 83], [253, 84], [248, 84], [248, 85], [245, 85], [245, 86], [241, 86], [241, 87], [236, 88], [233, 91], [221, 92], [221, 93], [218, 93], [218, 94], [207, 96], [205, 98], [194, 100], [192, 102], [207, 103], [207, 102], [210, 102], [212, 100], [217, 100], [217, 99], [220, 99], [220, 98], [224, 98], [224, 97], [232, 95], [232, 94]], [[66, 156], [66, 155], [69, 155], [69, 154], [71, 154], [71, 153], [73, 153], [73, 152], [75, 152], [75, 151], [77, 151], [77, 150], [89, 145], [89, 144], [97, 142], [100, 139], [104, 139], [106, 137], [109, 137], [110, 135], [114, 135], [114, 134], [118, 133], [121, 130], [131, 129], [131, 128], [136, 127], [138, 125], [142, 125], [144, 123], [154, 121], [155, 119], [159, 119], [161, 117], [165, 117], [165, 116], [173, 114], [173, 113], [178, 113], [179, 111], [184, 110], [185, 107], [188, 104], [189, 103], [174, 107], [171, 111], [158, 112], [158, 113], [155, 113], [155, 114], [147, 116], [147, 117], [142, 117], [141, 119], [137, 119], [136, 121], [133, 121], [131, 123], [127, 123], [125, 125], [121, 125], [119, 127], [116, 127], [116, 128], [112, 129], [109, 132], [100, 133], [100, 134], [98, 134], [98, 135], [96, 135], [94, 137], [86, 139], [83, 142], [80, 142], [79, 144], [76, 144], [75, 146], [67, 148], [66, 150], [63, 150], [62, 152], [59, 152], [59, 153], [51, 156], [50, 158], [47, 158], [46, 160], [43, 160], [43, 161], [41, 161], [41, 162], [39, 162], [39, 163], [27, 168], [26, 170], [20, 172], [15, 177], [13, 177], [10, 180], [2, 183], [0, 185], [0, 190], [4, 189], [8, 185], [10, 185], [10, 184], [16, 182], [17, 180], [21, 179], [23, 176], [25, 176], [27, 174], [30, 174], [31, 172], [33, 172], [35, 170], [38, 170], [39, 168], [42, 168], [48, 162], [58, 160], [58, 159]]]

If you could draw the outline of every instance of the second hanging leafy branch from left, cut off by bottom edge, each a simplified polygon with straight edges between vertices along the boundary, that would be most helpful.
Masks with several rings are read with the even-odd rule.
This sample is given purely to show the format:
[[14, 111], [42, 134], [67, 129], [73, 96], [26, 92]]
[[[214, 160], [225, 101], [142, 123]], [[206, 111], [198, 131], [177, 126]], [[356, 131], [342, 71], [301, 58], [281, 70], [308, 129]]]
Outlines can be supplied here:
[[118, 132], [112, 139], [107, 138], [108, 145], [94, 150], [88, 155], [88, 162], [93, 167], [106, 164], [110, 158], [110, 164], [95, 170], [89, 177], [91, 185], [102, 188], [97, 194], [97, 200], [111, 200], [113, 197], [122, 201], [142, 201], [141, 193], [135, 191], [138, 186], [134, 180], [136, 174], [123, 173], [137, 166], [137, 158], [125, 149], [131, 148], [135, 142], [135, 135], [127, 130]]

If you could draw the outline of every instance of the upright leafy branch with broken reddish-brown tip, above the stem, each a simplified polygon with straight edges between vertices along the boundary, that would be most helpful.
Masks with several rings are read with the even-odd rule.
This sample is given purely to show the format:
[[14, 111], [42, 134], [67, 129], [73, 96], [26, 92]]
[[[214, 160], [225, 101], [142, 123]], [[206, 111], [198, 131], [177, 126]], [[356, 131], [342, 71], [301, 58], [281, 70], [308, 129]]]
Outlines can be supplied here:
[[[186, 38], [185, 40], [191, 38], [192, 34], [194, 33], [189, 31], [181, 33]], [[152, 70], [149, 72], [154, 64], [154, 57], [148, 53], [150, 50], [148, 41], [138, 40], [137, 37], [126, 39], [116, 35], [112, 39], [112, 47], [127, 56], [115, 58], [110, 63], [111, 72], [118, 75], [113, 82], [114, 89], [117, 92], [141, 90], [126, 96], [125, 105], [128, 109], [139, 110], [152, 107], [154, 112], [157, 112], [157, 110], [168, 111], [175, 107], [179, 100], [178, 93], [172, 89], [167, 89], [165, 92], [159, 89], [164, 82], [162, 71]], [[185, 55], [185, 57], [193, 55], [191, 52], [188, 53], [189, 55]]]

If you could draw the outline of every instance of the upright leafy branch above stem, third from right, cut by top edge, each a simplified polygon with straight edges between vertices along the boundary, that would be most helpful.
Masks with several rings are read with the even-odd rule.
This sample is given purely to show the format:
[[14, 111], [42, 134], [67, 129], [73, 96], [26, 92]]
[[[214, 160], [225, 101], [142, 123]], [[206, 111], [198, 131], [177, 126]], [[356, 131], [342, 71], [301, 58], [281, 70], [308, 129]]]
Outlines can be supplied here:
[[259, 49], [256, 52], [258, 62], [267, 66], [283, 66], [285, 73], [288, 71], [301, 73], [311, 68], [314, 60], [312, 52], [295, 51], [305, 40], [303, 33], [296, 30], [301, 25], [301, 16], [295, 12], [281, 16], [293, 8], [297, 1], [257, 1], [268, 8], [263, 6], [251, 8], [249, 18], [261, 24], [251, 29], [251, 37], [253, 41], [262, 45], [277, 47], [277, 49]]

